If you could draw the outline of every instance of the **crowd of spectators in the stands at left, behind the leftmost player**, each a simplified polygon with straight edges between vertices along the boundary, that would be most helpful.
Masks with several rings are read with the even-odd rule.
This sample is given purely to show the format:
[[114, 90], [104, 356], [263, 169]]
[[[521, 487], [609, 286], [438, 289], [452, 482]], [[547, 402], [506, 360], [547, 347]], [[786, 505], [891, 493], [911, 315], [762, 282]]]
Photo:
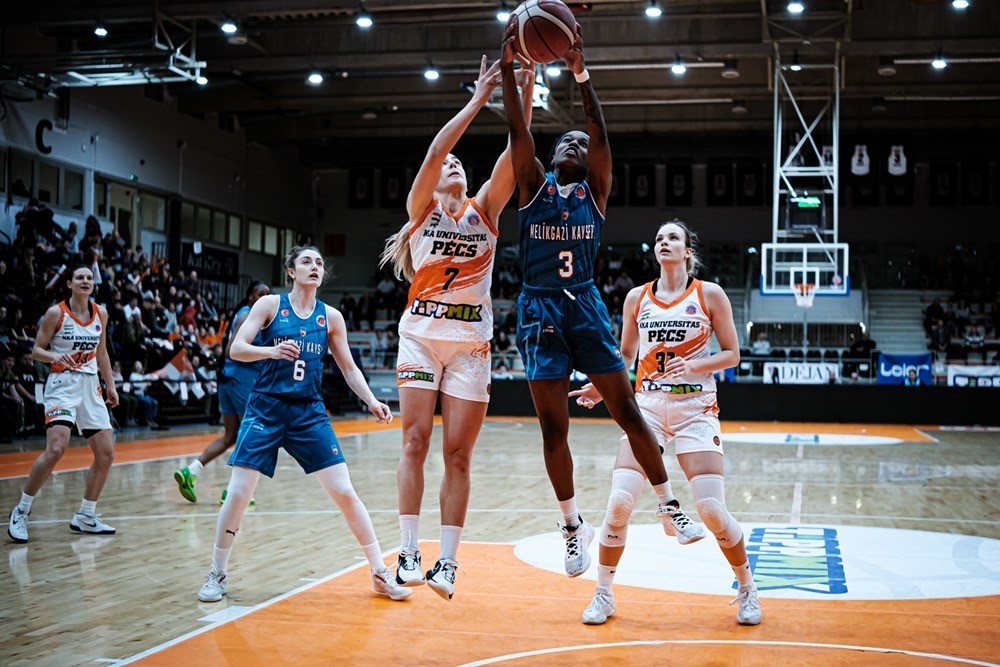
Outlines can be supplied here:
[[32, 199], [15, 220], [13, 242], [0, 243], [0, 438], [43, 427], [35, 387], [44, 384], [48, 367], [32, 362], [31, 348], [39, 320], [68, 296], [68, 273], [81, 264], [92, 268], [94, 298], [108, 310], [108, 351], [124, 397], [114, 414], [118, 424], [162, 428], [149, 387], [160, 383], [157, 371], [182, 350], [194, 370], [164, 383], [167, 395], [179, 401], [193, 396], [211, 414], [227, 322], [196, 272], [175, 271], [141, 246], [129, 247], [117, 231], [102, 231], [93, 216], [82, 233], [76, 223], [63, 229], [51, 209]]

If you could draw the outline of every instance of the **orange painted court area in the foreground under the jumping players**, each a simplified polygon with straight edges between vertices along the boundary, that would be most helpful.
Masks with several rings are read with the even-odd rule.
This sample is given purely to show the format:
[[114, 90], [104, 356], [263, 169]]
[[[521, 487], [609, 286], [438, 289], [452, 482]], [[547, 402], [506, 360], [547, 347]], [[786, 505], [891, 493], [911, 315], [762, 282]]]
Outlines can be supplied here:
[[[421, 549], [433, 562], [437, 544]], [[518, 560], [509, 544], [463, 544], [462, 562], [451, 602], [426, 586], [404, 602], [377, 597], [368, 568], [359, 567], [213, 626], [139, 664], [460, 665], [508, 656], [499, 662], [912, 665], [943, 664], [945, 657], [995, 661], [1000, 655], [997, 596], [765, 599], [764, 622], [742, 627], [727, 596], [619, 585], [618, 613], [603, 626], [585, 626], [579, 615], [590, 601], [592, 582], [533, 568]], [[231, 604], [239, 604], [239, 586], [236, 579], [230, 584]], [[556, 652], [514, 656], [538, 651]]]

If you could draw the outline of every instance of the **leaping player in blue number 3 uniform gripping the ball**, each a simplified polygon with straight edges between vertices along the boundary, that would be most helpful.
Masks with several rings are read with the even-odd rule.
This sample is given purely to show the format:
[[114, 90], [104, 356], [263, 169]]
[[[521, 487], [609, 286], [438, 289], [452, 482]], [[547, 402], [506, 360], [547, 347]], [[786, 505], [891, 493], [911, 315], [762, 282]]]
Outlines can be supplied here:
[[517, 346], [542, 427], [545, 468], [562, 511], [566, 574], [590, 566], [593, 527], [583, 520], [573, 486], [566, 395], [573, 370], [587, 373], [611, 416], [629, 437], [636, 461], [653, 484], [664, 513], [692, 530], [667, 480], [659, 447], [642, 419], [611, 332], [607, 308], [594, 286], [594, 257], [611, 192], [611, 147], [597, 94], [584, 66], [583, 39], [566, 54], [580, 85], [587, 132], [567, 132], [552, 151], [552, 171], [535, 157], [514, 82], [514, 31], [504, 35], [500, 70], [510, 125], [511, 158], [519, 192], [524, 286], [518, 297]]

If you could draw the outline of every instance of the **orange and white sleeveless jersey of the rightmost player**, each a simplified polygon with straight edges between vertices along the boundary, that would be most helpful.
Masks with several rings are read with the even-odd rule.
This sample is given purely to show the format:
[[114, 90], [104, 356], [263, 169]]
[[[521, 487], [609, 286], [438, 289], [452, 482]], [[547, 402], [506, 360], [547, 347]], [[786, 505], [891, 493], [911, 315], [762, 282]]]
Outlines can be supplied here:
[[639, 327], [639, 368], [635, 377], [637, 392], [692, 394], [715, 391], [711, 373], [689, 373], [668, 377], [664, 372], [673, 357], [701, 359], [709, 356], [712, 317], [705, 306], [701, 281], [692, 279], [684, 293], [665, 303], [653, 293], [656, 281], [643, 285], [636, 304]]

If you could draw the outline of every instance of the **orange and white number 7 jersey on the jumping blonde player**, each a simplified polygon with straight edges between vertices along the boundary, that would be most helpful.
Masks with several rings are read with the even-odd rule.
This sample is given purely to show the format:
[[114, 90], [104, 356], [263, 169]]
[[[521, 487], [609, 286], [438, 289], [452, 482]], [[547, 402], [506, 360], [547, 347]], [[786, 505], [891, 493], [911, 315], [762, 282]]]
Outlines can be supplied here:
[[497, 228], [475, 201], [452, 216], [437, 200], [410, 229], [415, 274], [399, 330], [433, 340], [493, 337], [493, 257]]

